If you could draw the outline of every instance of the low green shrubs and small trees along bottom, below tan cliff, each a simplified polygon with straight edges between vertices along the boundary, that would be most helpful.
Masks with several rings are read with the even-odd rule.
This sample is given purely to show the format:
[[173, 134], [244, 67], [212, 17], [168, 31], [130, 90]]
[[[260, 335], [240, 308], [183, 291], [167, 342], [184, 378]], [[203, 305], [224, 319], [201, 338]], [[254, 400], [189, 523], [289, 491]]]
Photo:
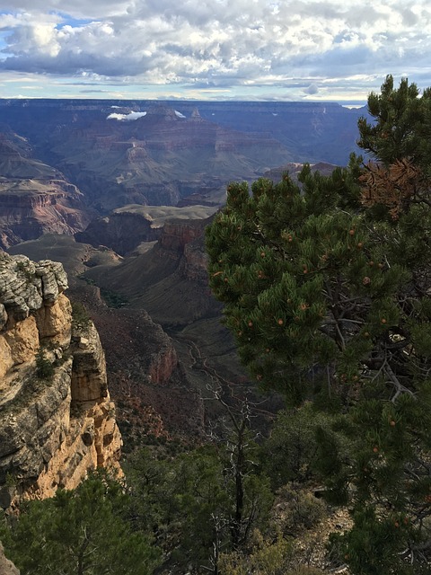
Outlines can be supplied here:
[[[169, 445], [146, 447], [128, 458], [121, 482], [96, 473], [75, 491], [25, 503], [0, 526], [6, 553], [25, 575], [317, 575], [296, 542], [330, 514], [311, 489], [318, 475], [301, 489], [271, 488], [277, 477], [265, 469], [266, 442], [254, 440], [253, 406], [225, 409], [206, 446], [176, 455]], [[277, 425], [298, 417], [282, 412]], [[296, 447], [310, 454], [312, 441]]]

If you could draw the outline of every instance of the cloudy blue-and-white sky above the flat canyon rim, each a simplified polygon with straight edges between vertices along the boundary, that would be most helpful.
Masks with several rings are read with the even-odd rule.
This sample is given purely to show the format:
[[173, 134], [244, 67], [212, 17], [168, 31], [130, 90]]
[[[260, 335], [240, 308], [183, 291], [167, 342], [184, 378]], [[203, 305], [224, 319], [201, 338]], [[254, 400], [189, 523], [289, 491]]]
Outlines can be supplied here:
[[0, 98], [365, 103], [431, 85], [429, 0], [0, 0]]

